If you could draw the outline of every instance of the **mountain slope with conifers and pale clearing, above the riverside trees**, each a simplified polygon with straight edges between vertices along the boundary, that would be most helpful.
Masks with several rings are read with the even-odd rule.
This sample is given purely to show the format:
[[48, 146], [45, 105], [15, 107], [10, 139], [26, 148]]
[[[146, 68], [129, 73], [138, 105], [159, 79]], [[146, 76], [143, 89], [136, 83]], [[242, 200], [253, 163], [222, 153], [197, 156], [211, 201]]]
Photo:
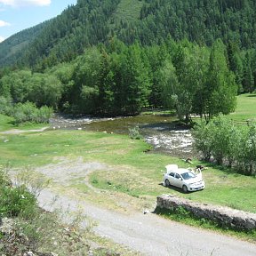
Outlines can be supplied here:
[[[10, 51], [2, 50], [5, 43], [0, 44], [0, 65], [19, 60], [21, 65], [37, 70], [52, 67], [73, 60], [88, 46], [108, 44], [112, 36], [125, 44], [137, 40], [144, 45], [160, 44], [167, 36], [206, 45], [221, 38], [225, 44], [235, 42], [241, 49], [255, 48], [254, 10], [253, 0], [78, 0], [47, 22], [33, 40], [13, 43], [15, 54], [10, 56]], [[26, 37], [23, 33], [16, 36]]]

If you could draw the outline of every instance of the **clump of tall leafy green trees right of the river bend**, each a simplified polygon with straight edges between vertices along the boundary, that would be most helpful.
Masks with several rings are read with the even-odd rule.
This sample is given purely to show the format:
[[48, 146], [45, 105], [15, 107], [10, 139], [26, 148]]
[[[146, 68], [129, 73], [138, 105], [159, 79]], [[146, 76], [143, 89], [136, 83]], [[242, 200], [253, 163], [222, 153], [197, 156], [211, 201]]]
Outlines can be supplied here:
[[168, 67], [162, 69], [164, 100], [171, 100], [180, 120], [189, 123], [190, 116], [196, 114], [208, 122], [213, 116], [235, 110], [236, 77], [228, 68], [221, 40], [212, 45], [211, 52], [184, 41], [174, 51]]

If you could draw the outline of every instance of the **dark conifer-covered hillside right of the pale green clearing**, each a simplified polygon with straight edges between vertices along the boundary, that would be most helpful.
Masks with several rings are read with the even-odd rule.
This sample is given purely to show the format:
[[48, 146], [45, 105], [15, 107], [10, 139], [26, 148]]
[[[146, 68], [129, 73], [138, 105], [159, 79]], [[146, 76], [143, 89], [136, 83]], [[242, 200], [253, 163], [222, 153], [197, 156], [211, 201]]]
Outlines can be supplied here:
[[[140, 21], [120, 38], [142, 44], [161, 42], [171, 35], [197, 44], [212, 45], [217, 39], [236, 42], [243, 49], [256, 44], [256, 2], [253, 0], [145, 0]], [[132, 35], [130, 35], [132, 31]]]

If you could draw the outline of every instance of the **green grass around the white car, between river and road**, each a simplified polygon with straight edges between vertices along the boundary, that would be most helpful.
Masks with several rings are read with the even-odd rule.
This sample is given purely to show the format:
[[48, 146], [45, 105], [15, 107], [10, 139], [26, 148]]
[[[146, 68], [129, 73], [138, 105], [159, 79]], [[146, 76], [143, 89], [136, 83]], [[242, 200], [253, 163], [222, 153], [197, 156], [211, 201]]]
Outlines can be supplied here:
[[[228, 170], [221, 171], [209, 166], [204, 171], [206, 188], [196, 193], [183, 194], [180, 189], [161, 185], [166, 164], [188, 167], [178, 158], [144, 153], [148, 144], [143, 140], [130, 140], [128, 136], [103, 132], [48, 131], [6, 135], [8, 142], [0, 140], [0, 164], [11, 163], [14, 167], [38, 166], [56, 161], [55, 156], [84, 162], [100, 162], [111, 166], [107, 170], [92, 172], [90, 180], [94, 187], [127, 196], [158, 196], [172, 194], [193, 201], [220, 204], [236, 209], [256, 212], [256, 179]], [[193, 163], [192, 167], [199, 162]], [[74, 188], [87, 191], [79, 180], [72, 180]], [[85, 185], [84, 185], [85, 186]]]

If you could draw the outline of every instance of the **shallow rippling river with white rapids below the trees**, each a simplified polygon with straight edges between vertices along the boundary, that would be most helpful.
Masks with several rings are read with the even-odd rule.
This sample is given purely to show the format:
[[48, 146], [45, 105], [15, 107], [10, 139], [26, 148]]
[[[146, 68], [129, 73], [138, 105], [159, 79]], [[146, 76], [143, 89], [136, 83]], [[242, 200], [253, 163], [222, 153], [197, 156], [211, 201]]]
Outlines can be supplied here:
[[150, 145], [152, 152], [181, 158], [196, 155], [192, 147], [193, 138], [188, 128], [180, 126], [172, 116], [128, 116], [116, 118], [94, 118], [54, 116], [52, 129], [74, 129], [94, 132], [129, 134], [129, 129], [140, 127], [140, 134]]

